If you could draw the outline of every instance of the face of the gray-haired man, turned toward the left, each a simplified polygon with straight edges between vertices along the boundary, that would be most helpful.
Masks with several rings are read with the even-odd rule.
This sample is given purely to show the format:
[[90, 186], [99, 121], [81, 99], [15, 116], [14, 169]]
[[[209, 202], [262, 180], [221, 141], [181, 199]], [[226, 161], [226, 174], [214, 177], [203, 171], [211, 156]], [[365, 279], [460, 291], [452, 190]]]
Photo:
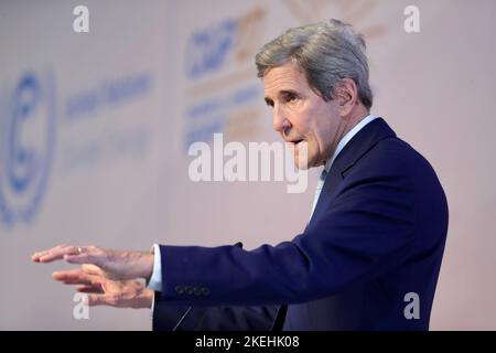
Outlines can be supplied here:
[[302, 141], [308, 143], [308, 167], [324, 164], [343, 128], [336, 100], [325, 101], [315, 94], [292, 64], [271, 68], [263, 76], [263, 87], [266, 101], [273, 109], [273, 128], [294, 147], [295, 164], [301, 165]]

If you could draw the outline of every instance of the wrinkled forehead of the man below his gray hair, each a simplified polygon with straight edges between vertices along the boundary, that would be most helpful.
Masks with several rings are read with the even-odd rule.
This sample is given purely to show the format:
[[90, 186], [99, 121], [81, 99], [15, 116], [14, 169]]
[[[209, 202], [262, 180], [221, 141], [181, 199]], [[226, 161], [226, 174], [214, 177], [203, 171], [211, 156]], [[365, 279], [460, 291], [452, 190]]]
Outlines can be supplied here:
[[263, 90], [266, 97], [278, 95], [281, 90], [310, 90], [306, 77], [293, 64], [285, 64], [269, 69], [263, 76]]

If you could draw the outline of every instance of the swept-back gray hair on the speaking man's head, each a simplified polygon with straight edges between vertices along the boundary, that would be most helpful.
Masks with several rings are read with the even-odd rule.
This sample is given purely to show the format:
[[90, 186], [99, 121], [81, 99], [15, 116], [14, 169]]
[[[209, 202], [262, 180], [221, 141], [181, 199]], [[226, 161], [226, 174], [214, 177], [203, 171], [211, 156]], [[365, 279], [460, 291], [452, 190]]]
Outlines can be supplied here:
[[263, 45], [255, 61], [260, 78], [269, 69], [292, 62], [325, 100], [334, 98], [341, 79], [352, 78], [358, 98], [370, 109], [373, 93], [365, 49], [363, 36], [351, 24], [333, 19], [288, 30]]

